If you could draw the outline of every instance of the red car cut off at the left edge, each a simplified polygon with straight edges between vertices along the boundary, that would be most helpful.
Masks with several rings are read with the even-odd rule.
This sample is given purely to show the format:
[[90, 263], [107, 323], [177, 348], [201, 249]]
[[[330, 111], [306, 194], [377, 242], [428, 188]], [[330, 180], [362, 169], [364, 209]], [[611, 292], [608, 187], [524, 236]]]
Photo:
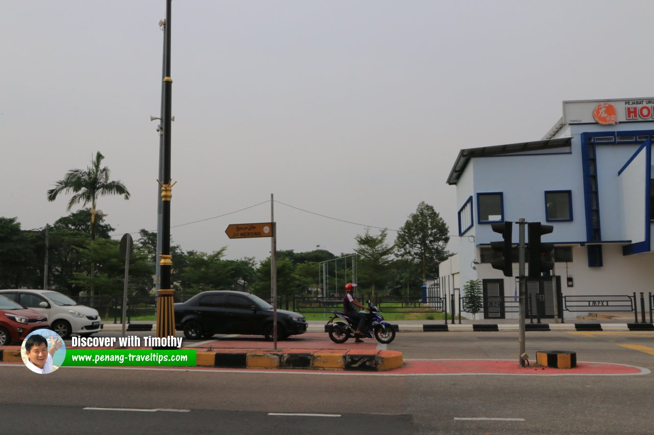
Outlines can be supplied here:
[[35, 329], [50, 329], [48, 316], [0, 296], [0, 346], [20, 344]]

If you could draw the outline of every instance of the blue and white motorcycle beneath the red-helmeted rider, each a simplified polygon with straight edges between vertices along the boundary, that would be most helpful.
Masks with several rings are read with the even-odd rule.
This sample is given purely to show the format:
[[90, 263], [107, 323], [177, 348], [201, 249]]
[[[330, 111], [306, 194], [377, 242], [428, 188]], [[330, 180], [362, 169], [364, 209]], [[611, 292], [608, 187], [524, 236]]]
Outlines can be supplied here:
[[[345, 313], [335, 310], [332, 310], [332, 314], [334, 316], [327, 322], [327, 326], [331, 325], [329, 338], [332, 342], [340, 344], [347, 342], [349, 338], [353, 338], [356, 333], [353, 323], [358, 323], [358, 320], [353, 321]], [[368, 338], [372, 338], [374, 334], [375, 339], [382, 344], [388, 344], [395, 340], [395, 330], [390, 323], [384, 321], [384, 317], [379, 314], [376, 306], [370, 304], [370, 300], [368, 301], [368, 312], [366, 313], [366, 327], [362, 334]]]

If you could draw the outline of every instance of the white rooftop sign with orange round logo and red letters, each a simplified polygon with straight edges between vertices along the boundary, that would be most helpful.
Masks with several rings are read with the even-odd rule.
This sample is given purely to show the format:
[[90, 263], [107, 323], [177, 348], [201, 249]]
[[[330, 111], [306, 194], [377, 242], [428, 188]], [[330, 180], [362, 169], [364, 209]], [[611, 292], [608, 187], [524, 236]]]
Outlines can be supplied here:
[[600, 125], [654, 121], [654, 97], [564, 101], [563, 121], [567, 124]]

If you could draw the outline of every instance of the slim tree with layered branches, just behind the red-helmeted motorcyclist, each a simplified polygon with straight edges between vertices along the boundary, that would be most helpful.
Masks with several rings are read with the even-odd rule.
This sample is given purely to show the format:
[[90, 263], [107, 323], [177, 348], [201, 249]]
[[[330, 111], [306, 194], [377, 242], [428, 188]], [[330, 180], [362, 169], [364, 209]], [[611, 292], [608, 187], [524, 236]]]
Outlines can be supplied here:
[[375, 298], [375, 284], [383, 280], [388, 274], [388, 265], [392, 260], [391, 255], [395, 251], [394, 245], [388, 245], [386, 238], [388, 231], [383, 229], [379, 236], [372, 236], [370, 228], [366, 228], [364, 235], [357, 235], [357, 248], [354, 252], [358, 255], [358, 276], [370, 283], [371, 298]]

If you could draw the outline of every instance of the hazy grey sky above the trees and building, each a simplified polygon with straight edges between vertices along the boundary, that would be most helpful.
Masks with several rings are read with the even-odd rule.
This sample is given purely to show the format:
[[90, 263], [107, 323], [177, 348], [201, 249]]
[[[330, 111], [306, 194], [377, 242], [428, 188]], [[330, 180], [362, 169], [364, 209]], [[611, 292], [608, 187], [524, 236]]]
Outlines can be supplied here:
[[[456, 234], [461, 148], [539, 140], [573, 99], [652, 97], [651, 1], [173, 1], [171, 223], [267, 201], [398, 229], [420, 201]], [[46, 190], [101, 151], [129, 201], [117, 237], [156, 229], [163, 0], [0, 0], [0, 216], [67, 214]], [[229, 240], [270, 206], [173, 228]], [[364, 227], [275, 204], [280, 250], [351, 252]], [[376, 231], [375, 231], [376, 232]], [[391, 238], [394, 232], [390, 231]]]

